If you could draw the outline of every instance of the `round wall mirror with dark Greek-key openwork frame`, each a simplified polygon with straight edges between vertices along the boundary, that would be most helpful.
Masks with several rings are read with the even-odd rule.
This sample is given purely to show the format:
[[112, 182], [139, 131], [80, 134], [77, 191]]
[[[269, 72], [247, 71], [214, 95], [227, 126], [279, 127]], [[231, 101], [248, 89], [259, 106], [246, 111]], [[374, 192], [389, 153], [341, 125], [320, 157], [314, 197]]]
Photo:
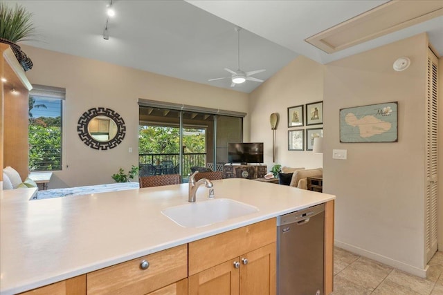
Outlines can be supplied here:
[[78, 120], [80, 140], [92, 149], [113, 149], [125, 138], [123, 118], [110, 108], [90, 108]]

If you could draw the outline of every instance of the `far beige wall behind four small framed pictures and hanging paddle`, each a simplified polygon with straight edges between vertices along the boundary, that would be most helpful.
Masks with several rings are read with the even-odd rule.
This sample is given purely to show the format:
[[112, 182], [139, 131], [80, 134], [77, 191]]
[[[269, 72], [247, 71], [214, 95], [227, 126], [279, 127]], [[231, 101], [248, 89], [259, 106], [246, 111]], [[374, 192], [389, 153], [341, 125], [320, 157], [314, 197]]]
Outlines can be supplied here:
[[[264, 142], [264, 162], [268, 170], [273, 164], [306, 168], [323, 166], [322, 155], [312, 151], [288, 151], [288, 130], [321, 128], [323, 125], [288, 128], [287, 117], [288, 107], [323, 100], [323, 68], [322, 64], [300, 55], [250, 94], [251, 142]], [[275, 131], [275, 163], [272, 162], [271, 113], [278, 113], [280, 117]]]

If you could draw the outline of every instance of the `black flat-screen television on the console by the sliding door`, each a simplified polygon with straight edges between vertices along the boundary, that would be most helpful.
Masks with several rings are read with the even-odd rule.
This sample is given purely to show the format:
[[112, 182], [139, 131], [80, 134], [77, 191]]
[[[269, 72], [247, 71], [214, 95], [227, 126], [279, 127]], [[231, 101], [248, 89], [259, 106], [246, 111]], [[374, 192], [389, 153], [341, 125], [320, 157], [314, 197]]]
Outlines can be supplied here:
[[228, 162], [230, 163], [262, 163], [263, 142], [228, 143]]

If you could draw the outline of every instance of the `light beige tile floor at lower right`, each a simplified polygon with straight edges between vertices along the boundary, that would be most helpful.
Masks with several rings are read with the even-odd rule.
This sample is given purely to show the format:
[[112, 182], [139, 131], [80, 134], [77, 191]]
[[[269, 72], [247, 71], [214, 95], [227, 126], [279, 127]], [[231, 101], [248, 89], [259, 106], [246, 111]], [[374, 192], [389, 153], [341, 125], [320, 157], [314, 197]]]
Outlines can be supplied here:
[[333, 295], [443, 295], [443, 252], [419, 278], [340, 248], [334, 249]]

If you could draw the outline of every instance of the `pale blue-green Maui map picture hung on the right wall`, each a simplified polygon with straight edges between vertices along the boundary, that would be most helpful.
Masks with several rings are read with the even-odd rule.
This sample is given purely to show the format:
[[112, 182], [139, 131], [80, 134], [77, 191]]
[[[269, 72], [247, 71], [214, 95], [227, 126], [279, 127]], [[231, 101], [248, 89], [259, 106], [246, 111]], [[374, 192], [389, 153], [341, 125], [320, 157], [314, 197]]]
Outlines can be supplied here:
[[397, 142], [398, 102], [340, 110], [340, 142]]

